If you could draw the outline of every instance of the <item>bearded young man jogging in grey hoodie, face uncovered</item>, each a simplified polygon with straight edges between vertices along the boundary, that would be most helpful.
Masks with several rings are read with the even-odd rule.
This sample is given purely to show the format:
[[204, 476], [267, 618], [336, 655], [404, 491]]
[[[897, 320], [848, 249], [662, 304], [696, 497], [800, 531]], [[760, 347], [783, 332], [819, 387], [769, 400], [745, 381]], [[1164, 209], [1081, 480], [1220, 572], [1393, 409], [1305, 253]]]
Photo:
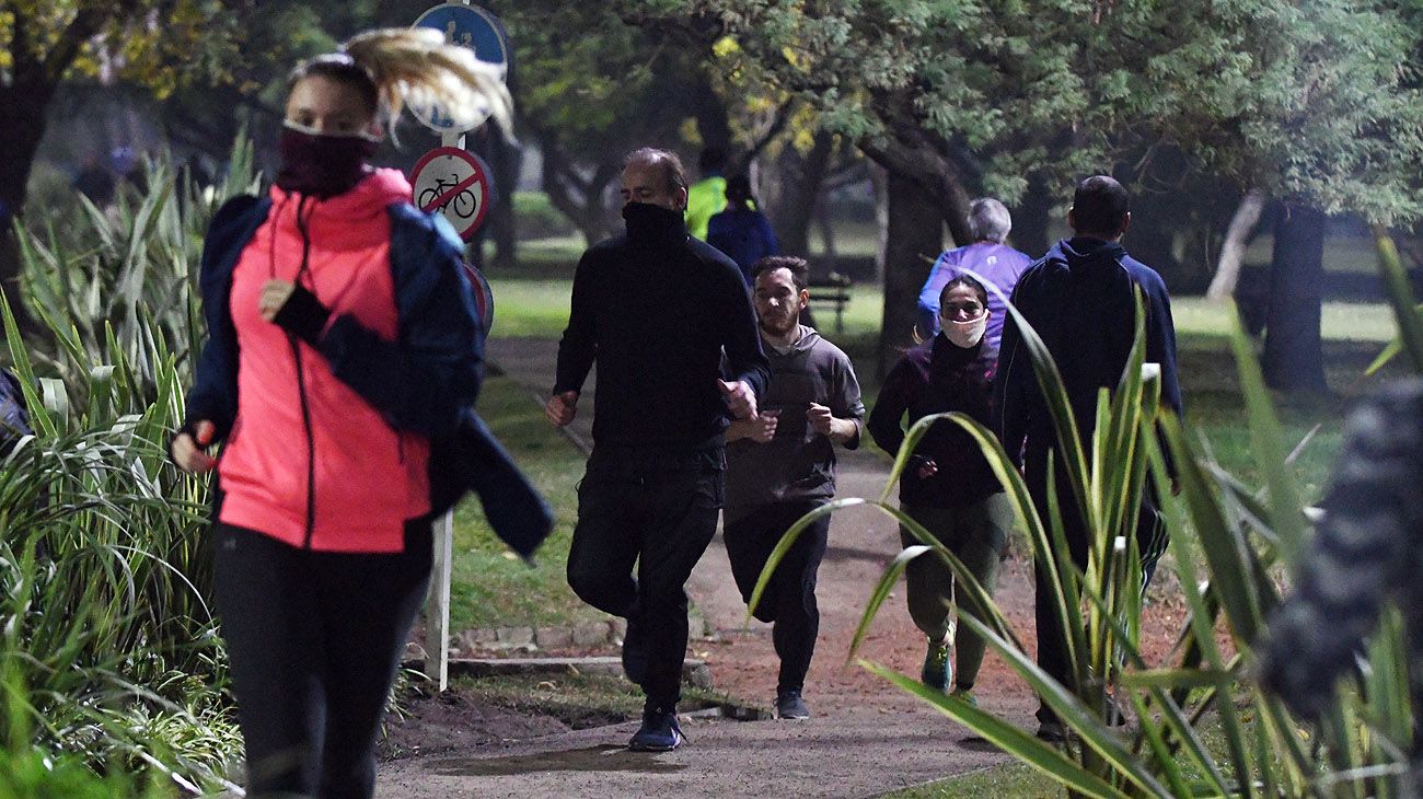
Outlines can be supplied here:
[[[855, 370], [838, 347], [798, 323], [810, 299], [805, 276], [798, 257], [763, 257], [753, 267], [751, 304], [771, 381], [757, 414], [726, 431], [723, 508], [726, 552], [746, 601], [781, 535], [835, 495], [834, 445], [859, 446], [865, 405]], [[801, 532], [754, 611], [774, 624], [780, 718], [810, 718], [801, 691], [820, 628], [815, 572], [828, 533], [830, 516]]]

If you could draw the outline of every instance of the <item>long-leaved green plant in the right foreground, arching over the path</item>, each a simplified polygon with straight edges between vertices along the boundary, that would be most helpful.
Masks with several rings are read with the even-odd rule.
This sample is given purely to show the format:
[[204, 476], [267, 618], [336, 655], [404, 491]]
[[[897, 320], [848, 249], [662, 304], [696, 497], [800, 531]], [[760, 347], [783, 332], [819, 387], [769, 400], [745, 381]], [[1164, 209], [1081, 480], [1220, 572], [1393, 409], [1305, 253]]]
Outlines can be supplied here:
[[[1392, 242], [1380, 235], [1380, 264], [1399, 316], [1400, 338], [1390, 353], [1407, 353], [1423, 372], [1423, 317], [1412, 297]], [[1291, 715], [1251, 680], [1252, 645], [1269, 610], [1279, 601], [1276, 566], [1288, 564], [1311, 533], [1302, 492], [1291, 469], [1299, 448], [1286, 444], [1249, 338], [1239, 324], [1232, 348], [1249, 415], [1251, 449], [1265, 485], [1238, 481], [1202, 451], [1170, 412], [1158, 412], [1157, 387], [1141, 374], [1141, 317], [1137, 345], [1113, 395], [1099, 398], [1091, 446], [1076, 444], [1076, 419], [1057, 370], [1042, 341], [1017, 311], [1025, 343], [1062, 442], [1066, 475], [1083, 508], [1093, 546], [1086, 570], [1066, 554], [1056, 503], [1036, 508], [1002, 445], [962, 414], [945, 418], [963, 425], [979, 442], [1002, 481], [1035, 559], [1046, 566], [1054, 610], [1067, 630], [1069, 684], [1044, 674], [973, 574], [926, 530], [889, 503], [889, 492], [915, 444], [936, 417], [911, 428], [889, 483], [877, 499], [847, 498], [807, 515], [783, 536], [763, 570], [751, 604], [784, 552], [815, 516], [851, 505], [871, 505], [891, 515], [921, 542], [905, 547], [887, 567], [867, 603], [851, 644], [855, 655], [865, 631], [915, 557], [939, 557], [955, 573], [959, 590], [985, 608], [983, 618], [959, 611], [1012, 670], [1073, 731], [1063, 748], [958, 698], [874, 663], [861, 664], [922, 698], [1019, 761], [1049, 775], [1074, 796], [1403, 796], [1407, 742], [1413, 734], [1409, 660], [1397, 614], [1386, 616], [1373, 637], [1358, 680], [1339, 687], [1338, 701], [1318, 726]], [[1164, 444], [1163, 444], [1164, 442]], [[1086, 452], [1090, 452], [1089, 458]], [[1170, 456], [1180, 496], [1165, 485]], [[1180, 633], [1175, 665], [1143, 660], [1140, 566], [1131, 515], [1147, 476], [1165, 499], [1174, 569], [1190, 611]], [[1049, 492], [1052, 495], [1052, 492]], [[1077, 599], [1080, 596], [1080, 600]], [[1228, 644], [1220, 641], [1221, 633]], [[1121, 732], [1107, 724], [1109, 687], [1116, 701], [1136, 711], [1137, 724]], [[1220, 739], [1222, 744], [1217, 744]]]

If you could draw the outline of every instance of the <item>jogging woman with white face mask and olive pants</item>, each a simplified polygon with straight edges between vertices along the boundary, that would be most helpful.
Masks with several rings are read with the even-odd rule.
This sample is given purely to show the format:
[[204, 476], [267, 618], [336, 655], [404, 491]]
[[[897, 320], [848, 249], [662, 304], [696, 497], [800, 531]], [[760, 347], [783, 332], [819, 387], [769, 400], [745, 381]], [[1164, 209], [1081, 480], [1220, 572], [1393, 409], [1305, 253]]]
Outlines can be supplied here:
[[[898, 456], [905, 429], [916, 421], [962, 411], [989, 424], [998, 350], [985, 338], [988, 291], [968, 276], [955, 277], [939, 294], [939, 334], [899, 358], [885, 377], [869, 414], [869, 435]], [[979, 451], [959, 425], [941, 419], [919, 439], [899, 481], [899, 508], [929, 530], [973, 573], [989, 594], [1013, 525], [1013, 509]], [[905, 546], [919, 540], [899, 530]], [[925, 685], [973, 699], [973, 681], [983, 663], [983, 640], [966, 626], [955, 634], [953, 573], [933, 554], [905, 570], [909, 616], [928, 637], [921, 678]], [[982, 617], [965, 597], [965, 610]], [[956, 650], [958, 670], [949, 663]], [[975, 702], [976, 704], [976, 702]]]

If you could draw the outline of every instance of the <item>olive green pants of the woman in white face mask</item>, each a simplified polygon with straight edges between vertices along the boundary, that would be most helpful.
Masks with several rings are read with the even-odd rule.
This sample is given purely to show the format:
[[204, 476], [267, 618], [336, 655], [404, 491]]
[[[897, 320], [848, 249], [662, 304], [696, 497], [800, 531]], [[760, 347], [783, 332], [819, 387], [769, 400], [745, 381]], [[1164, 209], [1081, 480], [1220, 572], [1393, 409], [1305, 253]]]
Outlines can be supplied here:
[[[1007, 546], [1007, 532], [1013, 526], [1013, 506], [1007, 496], [995, 493], [975, 505], [962, 508], [924, 508], [904, 502], [899, 508], [929, 535], [939, 539], [963, 566], [978, 579], [989, 596], [998, 583], [998, 564]], [[921, 543], [902, 525], [899, 540], [904, 546]], [[942, 640], [953, 634], [955, 678], [959, 688], [972, 688], [983, 664], [983, 638], [965, 624], [955, 624], [953, 572], [933, 553], [925, 553], [909, 562], [905, 569], [905, 583], [909, 596], [909, 617], [915, 627], [931, 640]], [[982, 608], [968, 596], [962, 599], [963, 611], [975, 618], [983, 618]]]

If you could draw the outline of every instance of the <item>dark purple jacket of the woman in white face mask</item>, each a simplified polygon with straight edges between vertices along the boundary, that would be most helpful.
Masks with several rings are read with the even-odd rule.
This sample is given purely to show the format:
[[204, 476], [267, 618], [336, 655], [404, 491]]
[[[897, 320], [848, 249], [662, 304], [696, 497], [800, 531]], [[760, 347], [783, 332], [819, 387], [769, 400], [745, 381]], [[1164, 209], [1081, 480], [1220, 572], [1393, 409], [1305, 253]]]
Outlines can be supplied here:
[[[898, 456], [905, 435], [899, 422], [906, 412], [908, 425], [949, 411], [963, 411], [979, 422], [989, 424], [996, 363], [998, 350], [989, 344], [988, 337], [965, 350], [943, 336], [935, 336], [909, 350], [889, 370], [879, 390], [875, 409], [865, 425], [871, 438], [881, 449]], [[939, 468], [928, 479], [919, 478], [924, 459], [932, 459]], [[1000, 490], [1003, 486], [978, 442], [949, 419], [933, 422], [919, 439], [914, 458], [899, 479], [899, 500], [921, 508], [961, 508]]]

